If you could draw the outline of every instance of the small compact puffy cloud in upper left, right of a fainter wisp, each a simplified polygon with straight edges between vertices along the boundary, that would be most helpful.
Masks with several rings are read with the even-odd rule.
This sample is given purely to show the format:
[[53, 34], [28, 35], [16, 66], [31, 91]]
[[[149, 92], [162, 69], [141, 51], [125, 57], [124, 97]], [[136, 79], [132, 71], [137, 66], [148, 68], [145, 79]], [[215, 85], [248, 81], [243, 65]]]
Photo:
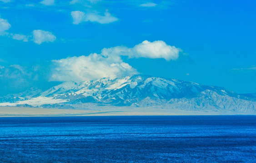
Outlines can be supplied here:
[[33, 41], [34, 43], [41, 44], [43, 42], [54, 42], [56, 40], [55, 35], [48, 31], [34, 30]]

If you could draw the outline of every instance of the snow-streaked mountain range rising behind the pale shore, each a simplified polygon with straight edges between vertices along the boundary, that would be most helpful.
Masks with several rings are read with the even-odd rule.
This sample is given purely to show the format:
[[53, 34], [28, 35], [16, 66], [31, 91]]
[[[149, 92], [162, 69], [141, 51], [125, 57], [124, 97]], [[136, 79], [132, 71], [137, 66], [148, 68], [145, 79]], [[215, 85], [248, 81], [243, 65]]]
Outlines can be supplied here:
[[46, 91], [31, 89], [0, 99], [0, 105], [74, 108], [95, 105], [176, 108], [256, 114], [256, 98], [223, 87], [144, 75], [64, 82]]

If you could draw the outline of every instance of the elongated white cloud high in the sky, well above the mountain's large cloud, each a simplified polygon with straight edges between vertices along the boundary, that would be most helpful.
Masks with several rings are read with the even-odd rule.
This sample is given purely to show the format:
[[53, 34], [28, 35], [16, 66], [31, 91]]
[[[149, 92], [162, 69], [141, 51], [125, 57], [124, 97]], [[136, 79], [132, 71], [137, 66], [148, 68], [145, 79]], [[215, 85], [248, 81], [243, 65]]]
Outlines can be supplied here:
[[81, 22], [91, 21], [100, 24], [108, 24], [117, 21], [118, 19], [112, 16], [108, 10], [105, 11], [104, 16], [95, 13], [85, 14], [82, 11], [72, 11], [73, 24], [80, 24]]

